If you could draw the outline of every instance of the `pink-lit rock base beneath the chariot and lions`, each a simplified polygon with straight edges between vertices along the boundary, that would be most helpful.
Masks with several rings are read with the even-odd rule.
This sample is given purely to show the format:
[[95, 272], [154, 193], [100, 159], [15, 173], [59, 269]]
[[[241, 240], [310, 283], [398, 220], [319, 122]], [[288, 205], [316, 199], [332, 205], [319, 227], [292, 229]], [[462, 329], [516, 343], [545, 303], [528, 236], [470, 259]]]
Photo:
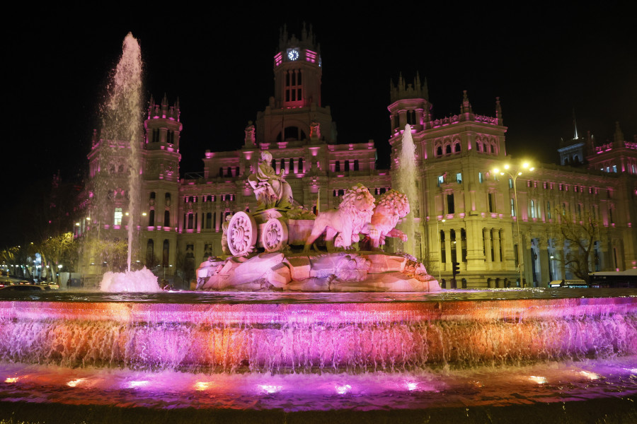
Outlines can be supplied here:
[[407, 254], [262, 253], [211, 258], [197, 269], [197, 290], [435, 292], [440, 284]]

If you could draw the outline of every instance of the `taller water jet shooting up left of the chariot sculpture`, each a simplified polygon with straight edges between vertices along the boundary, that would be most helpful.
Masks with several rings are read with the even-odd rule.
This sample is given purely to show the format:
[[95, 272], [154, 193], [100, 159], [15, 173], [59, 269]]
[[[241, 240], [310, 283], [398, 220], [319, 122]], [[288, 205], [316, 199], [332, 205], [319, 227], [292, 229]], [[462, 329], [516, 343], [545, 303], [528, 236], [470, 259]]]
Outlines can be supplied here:
[[[137, 248], [139, 221], [139, 145], [143, 137], [142, 116], [142, 54], [139, 43], [131, 33], [124, 39], [122, 57], [117, 63], [108, 86], [108, 99], [103, 105], [103, 136], [117, 150], [127, 151], [128, 168], [128, 252], [127, 269], [130, 271], [132, 252]], [[122, 143], [122, 144], [120, 144]], [[117, 154], [119, 156], [119, 154]], [[113, 162], [115, 163], [115, 162]], [[122, 163], [111, 164], [122, 169]], [[108, 194], [116, 196], [117, 194]], [[116, 212], [117, 213], [117, 212]], [[121, 213], [121, 211], [120, 211]], [[119, 217], [123, 219], [122, 216]], [[117, 216], [115, 225], [117, 225]]]

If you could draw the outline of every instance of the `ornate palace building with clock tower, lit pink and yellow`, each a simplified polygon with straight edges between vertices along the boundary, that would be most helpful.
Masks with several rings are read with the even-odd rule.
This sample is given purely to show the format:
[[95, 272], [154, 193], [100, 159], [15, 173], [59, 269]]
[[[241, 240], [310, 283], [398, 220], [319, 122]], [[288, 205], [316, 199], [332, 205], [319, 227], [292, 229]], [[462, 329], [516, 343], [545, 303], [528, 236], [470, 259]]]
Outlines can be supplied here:
[[[334, 208], [343, 190], [361, 183], [374, 196], [396, 187], [403, 131], [410, 124], [416, 147], [418, 206], [415, 254], [449, 288], [452, 266], [459, 263], [457, 285], [544, 286], [571, 278], [565, 260], [577, 249], [561, 236], [560, 216], [583, 220], [592, 213], [596, 229], [590, 269], [637, 267], [637, 139], [626, 141], [616, 127], [614, 141], [596, 143], [589, 134], [562, 143], [560, 165], [517, 163], [506, 172], [503, 112], [474, 113], [465, 92], [458, 114], [436, 119], [427, 86], [418, 75], [392, 85], [391, 169], [376, 168], [373, 141], [336, 140], [329, 106], [321, 102], [321, 52], [311, 31], [300, 38], [283, 32], [272, 61], [274, 95], [265, 110], [248, 122], [243, 146], [235, 151], [206, 151], [203, 172], [179, 175], [178, 102], [151, 98], [139, 154], [142, 189], [141, 237], [136, 261], [189, 281], [207, 257], [222, 254], [222, 225], [236, 211], [254, 211], [256, 198], [248, 175], [262, 151], [285, 172], [294, 200], [315, 213]], [[88, 155], [90, 180], [81, 205], [78, 235], [100, 232], [125, 239], [128, 223], [125, 146], [96, 133]], [[115, 153], [113, 153], [115, 152]], [[562, 218], [563, 219], [563, 218]], [[399, 249], [391, 240], [386, 249]], [[97, 251], [81, 264], [88, 281], [97, 281], [105, 261]], [[156, 269], [156, 268], [155, 268]], [[161, 271], [159, 271], [161, 273]]]

